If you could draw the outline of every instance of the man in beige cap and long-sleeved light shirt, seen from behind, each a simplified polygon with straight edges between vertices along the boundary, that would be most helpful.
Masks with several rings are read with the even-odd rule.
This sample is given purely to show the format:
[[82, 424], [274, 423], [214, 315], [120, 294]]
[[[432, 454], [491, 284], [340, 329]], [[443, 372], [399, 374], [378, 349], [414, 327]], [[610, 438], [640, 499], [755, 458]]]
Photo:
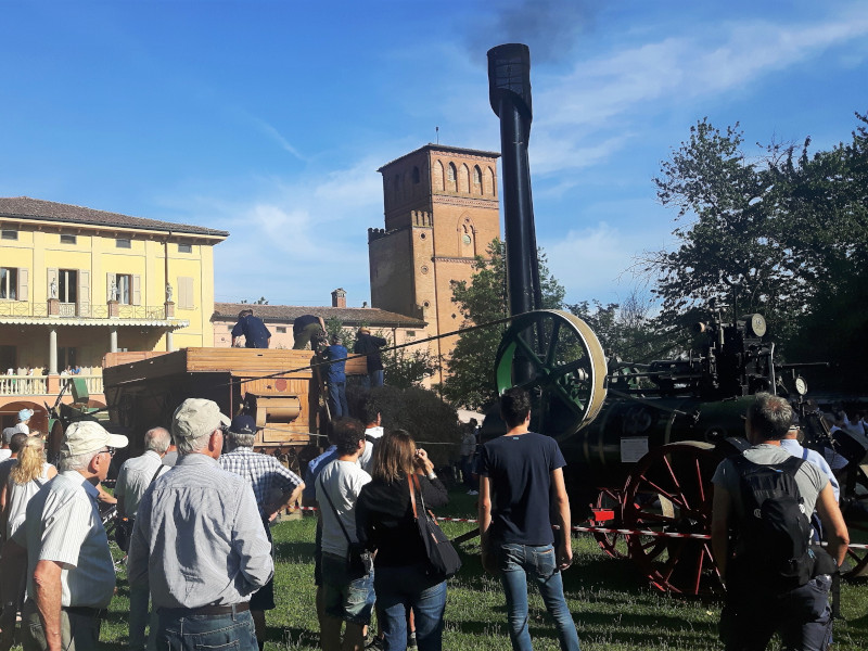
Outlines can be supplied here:
[[217, 462], [228, 424], [216, 403], [184, 400], [178, 462], [139, 502], [127, 576], [151, 589], [159, 649], [257, 651], [250, 599], [275, 566], [253, 488]]

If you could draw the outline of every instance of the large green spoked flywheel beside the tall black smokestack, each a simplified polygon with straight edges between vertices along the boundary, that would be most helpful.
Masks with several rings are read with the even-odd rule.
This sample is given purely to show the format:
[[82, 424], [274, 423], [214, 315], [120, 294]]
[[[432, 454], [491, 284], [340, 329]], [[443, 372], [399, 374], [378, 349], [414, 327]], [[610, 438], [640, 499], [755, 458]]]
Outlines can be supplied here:
[[[518, 383], [514, 368], [531, 379]], [[498, 393], [521, 385], [538, 400], [534, 429], [561, 439], [599, 413], [605, 399], [605, 356], [597, 335], [575, 315], [538, 310], [519, 315], [500, 340], [495, 361]]]

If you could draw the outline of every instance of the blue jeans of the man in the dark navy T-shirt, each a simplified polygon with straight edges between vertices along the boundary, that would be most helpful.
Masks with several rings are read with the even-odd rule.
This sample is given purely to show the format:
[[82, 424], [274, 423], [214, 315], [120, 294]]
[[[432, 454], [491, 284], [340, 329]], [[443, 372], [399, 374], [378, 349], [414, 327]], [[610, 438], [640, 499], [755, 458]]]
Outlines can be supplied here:
[[558, 639], [562, 651], [578, 651], [578, 634], [566, 599], [563, 580], [558, 570], [554, 547], [542, 545], [516, 545], [501, 542], [497, 547], [500, 583], [507, 595], [507, 618], [509, 638], [515, 651], [532, 651], [531, 633], [527, 625], [527, 580], [533, 579], [546, 610], [558, 627]]

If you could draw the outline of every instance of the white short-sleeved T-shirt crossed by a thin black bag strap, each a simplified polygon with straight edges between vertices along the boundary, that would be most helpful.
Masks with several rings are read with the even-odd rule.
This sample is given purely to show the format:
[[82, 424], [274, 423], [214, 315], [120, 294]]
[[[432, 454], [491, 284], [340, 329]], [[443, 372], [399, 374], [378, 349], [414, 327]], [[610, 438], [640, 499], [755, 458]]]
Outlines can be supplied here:
[[[317, 477], [317, 502], [322, 516], [322, 551], [346, 556], [348, 542], [337, 518], [346, 528], [353, 542], [358, 542], [356, 533], [356, 500], [361, 487], [371, 481], [371, 475], [355, 461], [335, 459], [322, 469]], [[323, 495], [323, 490], [331, 498]], [[331, 505], [334, 505], [334, 510]], [[335, 510], [337, 518], [335, 518]]]

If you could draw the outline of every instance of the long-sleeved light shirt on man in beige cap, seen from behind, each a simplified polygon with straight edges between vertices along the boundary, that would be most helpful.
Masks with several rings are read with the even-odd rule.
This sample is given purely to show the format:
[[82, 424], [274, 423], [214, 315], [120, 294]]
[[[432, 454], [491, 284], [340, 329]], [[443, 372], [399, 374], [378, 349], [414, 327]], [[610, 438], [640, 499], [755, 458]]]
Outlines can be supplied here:
[[127, 577], [157, 608], [250, 601], [273, 569], [253, 490], [210, 457], [180, 456], [139, 502]]

